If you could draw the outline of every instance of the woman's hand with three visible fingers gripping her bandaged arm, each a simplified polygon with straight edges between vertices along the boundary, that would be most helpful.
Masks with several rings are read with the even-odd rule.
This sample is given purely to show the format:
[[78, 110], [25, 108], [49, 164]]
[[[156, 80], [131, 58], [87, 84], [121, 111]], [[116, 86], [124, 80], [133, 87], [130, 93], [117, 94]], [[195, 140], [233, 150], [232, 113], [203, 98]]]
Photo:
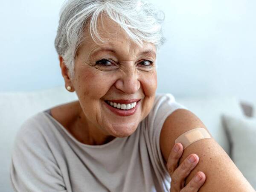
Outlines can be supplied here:
[[[176, 152], [175, 146], [179, 149]], [[190, 154], [179, 166], [178, 162], [183, 153], [183, 146], [181, 143], [176, 143], [169, 154], [167, 161], [167, 169], [172, 178], [170, 192], [197, 192], [199, 188], [204, 184], [206, 176], [203, 172], [197, 172], [194, 178], [185, 185], [185, 179], [189, 173], [195, 168], [199, 162], [199, 157], [196, 154]], [[189, 158], [195, 157], [194, 162], [190, 163]], [[178, 166], [178, 167], [177, 167]], [[196, 176], [199, 175], [199, 180], [196, 180]], [[201, 176], [201, 177], [200, 177]]]

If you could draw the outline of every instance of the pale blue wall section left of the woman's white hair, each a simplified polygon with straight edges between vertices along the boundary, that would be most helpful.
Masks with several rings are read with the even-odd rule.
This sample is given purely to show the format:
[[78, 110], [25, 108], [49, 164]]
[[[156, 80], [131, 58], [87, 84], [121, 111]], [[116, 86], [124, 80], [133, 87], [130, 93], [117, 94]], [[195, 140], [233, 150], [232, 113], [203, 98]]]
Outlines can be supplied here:
[[0, 3], [0, 91], [63, 84], [54, 39], [63, 0]]

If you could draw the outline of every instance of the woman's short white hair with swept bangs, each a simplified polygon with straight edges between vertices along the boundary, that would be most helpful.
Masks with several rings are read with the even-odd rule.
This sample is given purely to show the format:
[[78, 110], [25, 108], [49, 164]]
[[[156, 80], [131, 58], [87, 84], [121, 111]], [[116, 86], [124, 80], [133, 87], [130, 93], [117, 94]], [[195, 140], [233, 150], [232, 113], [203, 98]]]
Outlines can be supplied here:
[[103, 12], [140, 46], [148, 42], [158, 49], [165, 42], [162, 32], [164, 13], [147, 0], [68, 0], [60, 12], [55, 48], [64, 59], [71, 79], [75, 76], [76, 52], [84, 39], [85, 27], [89, 27], [94, 41], [95, 38], [102, 41], [97, 20]]

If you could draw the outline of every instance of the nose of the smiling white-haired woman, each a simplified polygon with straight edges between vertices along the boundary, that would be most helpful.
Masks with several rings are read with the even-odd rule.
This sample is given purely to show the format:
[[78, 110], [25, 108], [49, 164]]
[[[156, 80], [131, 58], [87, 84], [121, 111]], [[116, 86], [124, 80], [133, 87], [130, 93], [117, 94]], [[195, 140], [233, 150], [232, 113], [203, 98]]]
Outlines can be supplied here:
[[126, 94], [134, 94], [140, 89], [140, 81], [138, 79], [137, 70], [132, 68], [124, 71], [120, 78], [116, 81], [115, 86]]

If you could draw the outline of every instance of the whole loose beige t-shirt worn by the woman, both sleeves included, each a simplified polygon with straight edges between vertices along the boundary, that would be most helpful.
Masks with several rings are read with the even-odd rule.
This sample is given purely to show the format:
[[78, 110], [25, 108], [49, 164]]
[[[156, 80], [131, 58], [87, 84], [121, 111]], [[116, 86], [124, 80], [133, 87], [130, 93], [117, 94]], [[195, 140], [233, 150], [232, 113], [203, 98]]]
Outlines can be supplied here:
[[159, 138], [178, 108], [185, 107], [171, 94], [157, 95], [133, 134], [104, 145], [80, 143], [49, 110], [37, 113], [15, 137], [12, 186], [17, 192], [168, 192], [171, 178]]

